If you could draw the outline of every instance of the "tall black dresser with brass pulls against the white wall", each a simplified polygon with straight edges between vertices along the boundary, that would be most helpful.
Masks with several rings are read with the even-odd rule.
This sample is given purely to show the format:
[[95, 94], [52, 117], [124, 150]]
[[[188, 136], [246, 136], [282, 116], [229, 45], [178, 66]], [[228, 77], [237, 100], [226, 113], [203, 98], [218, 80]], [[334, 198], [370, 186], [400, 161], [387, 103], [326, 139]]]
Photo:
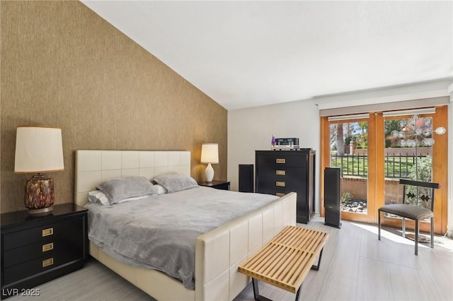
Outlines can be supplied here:
[[316, 151], [256, 151], [256, 192], [283, 196], [297, 192], [297, 223], [314, 216]]

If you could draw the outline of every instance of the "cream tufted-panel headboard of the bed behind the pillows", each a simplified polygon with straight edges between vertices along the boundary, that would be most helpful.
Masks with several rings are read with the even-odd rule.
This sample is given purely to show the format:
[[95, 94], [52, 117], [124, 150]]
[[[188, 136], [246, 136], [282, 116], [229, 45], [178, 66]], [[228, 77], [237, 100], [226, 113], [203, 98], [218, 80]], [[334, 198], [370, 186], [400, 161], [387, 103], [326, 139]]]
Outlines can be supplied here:
[[190, 151], [76, 151], [75, 202], [84, 206], [88, 192], [115, 177], [151, 179], [168, 172], [190, 175]]

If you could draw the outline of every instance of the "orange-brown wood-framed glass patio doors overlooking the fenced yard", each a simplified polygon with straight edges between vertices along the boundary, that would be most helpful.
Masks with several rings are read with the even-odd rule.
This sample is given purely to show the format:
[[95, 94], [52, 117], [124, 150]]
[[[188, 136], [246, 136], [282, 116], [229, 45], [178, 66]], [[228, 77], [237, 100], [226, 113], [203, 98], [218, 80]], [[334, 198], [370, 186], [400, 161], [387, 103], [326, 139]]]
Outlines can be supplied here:
[[[438, 182], [435, 231], [447, 228], [447, 106], [321, 117], [321, 214], [324, 167], [340, 167], [341, 218], [377, 223], [377, 208], [401, 203], [399, 179]], [[386, 216], [384, 225], [401, 226]], [[420, 230], [429, 231], [428, 225]], [[408, 228], [413, 224], [408, 223]]]

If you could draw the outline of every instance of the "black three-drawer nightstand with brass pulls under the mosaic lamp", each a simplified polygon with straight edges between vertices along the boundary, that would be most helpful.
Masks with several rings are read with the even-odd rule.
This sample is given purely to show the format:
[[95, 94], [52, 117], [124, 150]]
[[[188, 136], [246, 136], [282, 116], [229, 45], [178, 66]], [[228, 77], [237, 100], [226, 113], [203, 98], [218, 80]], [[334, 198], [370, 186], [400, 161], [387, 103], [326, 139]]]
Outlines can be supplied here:
[[37, 285], [84, 266], [88, 210], [74, 203], [53, 208], [49, 216], [1, 214], [1, 299], [39, 295]]

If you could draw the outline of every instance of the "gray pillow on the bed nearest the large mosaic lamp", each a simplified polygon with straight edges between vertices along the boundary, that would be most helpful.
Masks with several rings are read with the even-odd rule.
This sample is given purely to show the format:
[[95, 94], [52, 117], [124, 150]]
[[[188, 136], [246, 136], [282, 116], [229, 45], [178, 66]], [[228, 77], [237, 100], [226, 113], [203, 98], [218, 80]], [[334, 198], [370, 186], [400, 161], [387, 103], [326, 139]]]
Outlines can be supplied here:
[[111, 204], [133, 196], [156, 195], [157, 189], [146, 177], [120, 177], [109, 179], [96, 186], [103, 191]]

